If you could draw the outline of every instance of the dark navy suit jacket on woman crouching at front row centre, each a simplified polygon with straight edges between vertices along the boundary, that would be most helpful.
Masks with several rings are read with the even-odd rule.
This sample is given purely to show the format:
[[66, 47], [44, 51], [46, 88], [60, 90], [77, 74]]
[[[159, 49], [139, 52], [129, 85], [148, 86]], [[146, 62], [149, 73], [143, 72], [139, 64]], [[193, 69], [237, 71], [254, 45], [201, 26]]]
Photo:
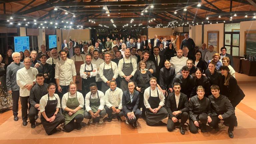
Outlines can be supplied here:
[[134, 112], [137, 110], [139, 103], [140, 103], [140, 97], [139, 92], [135, 91], [135, 94], [132, 98], [132, 102], [130, 101], [130, 92], [129, 90], [123, 92], [122, 97], [122, 106], [123, 106], [123, 113], [126, 115], [129, 112]]

